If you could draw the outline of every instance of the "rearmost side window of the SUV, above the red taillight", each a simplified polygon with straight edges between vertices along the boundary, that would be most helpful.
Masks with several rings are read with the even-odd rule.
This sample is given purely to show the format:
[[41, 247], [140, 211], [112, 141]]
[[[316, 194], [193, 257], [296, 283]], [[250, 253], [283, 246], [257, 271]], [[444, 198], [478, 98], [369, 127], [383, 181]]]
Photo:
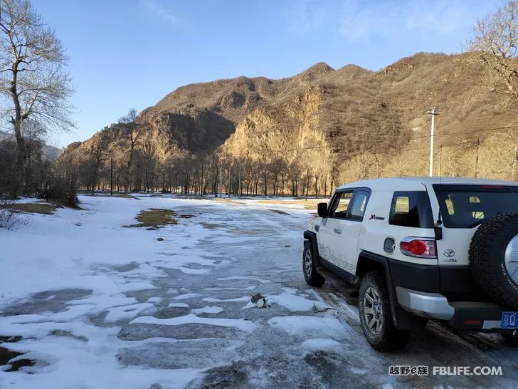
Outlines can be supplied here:
[[394, 192], [388, 224], [433, 228], [432, 208], [427, 192]]

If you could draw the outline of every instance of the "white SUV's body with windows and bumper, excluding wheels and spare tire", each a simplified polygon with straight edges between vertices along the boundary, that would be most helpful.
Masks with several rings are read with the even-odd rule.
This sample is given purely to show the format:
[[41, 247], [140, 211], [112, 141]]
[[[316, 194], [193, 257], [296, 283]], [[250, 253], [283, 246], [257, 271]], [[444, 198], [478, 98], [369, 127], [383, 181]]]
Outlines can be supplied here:
[[[411, 313], [448, 321], [455, 328], [475, 329], [477, 323], [476, 329], [496, 331], [502, 307], [481, 293], [468, 255], [480, 223], [500, 208], [494, 206], [493, 192], [518, 196], [518, 183], [398, 177], [337, 187], [327, 208], [319, 211], [322, 217], [311, 219], [304, 234], [311, 243], [314, 269], [322, 279], [338, 276], [356, 286], [369, 271], [383, 274], [396, 328], [411, 328], [411, 319], [405, 317]], [[503, 212], [517, 212], [514, 197], [507, 199], [512, 204], [502, 202]], [[409, 244], [426, 251], [416, 254], [415, 247], [408, 251]], [[309, 264], [306, 259], [305, 269]], [[470, 315], [477, 320], [470, 321]]]

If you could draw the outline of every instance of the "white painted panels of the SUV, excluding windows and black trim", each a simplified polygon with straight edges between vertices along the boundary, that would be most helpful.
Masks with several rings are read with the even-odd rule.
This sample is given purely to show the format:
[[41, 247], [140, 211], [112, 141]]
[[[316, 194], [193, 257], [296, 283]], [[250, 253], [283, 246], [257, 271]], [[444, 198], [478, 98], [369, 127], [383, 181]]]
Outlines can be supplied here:
[[[433, 220], [439, 220], [439, 204], [432, 185], [517, 185], [517, 182], [499, 180], [482, 180], [457, 177], [400, 177], [364, 180], [337, 187], [336, 192], [368, 188], [371, 196], [366, 204], [365, 217], [362, 221], [349, 219], [334, 219], [332, 217], [314, 217], [307, 229], [317, 234], [320, 255], [341, 269], [352, 274], [356, 271], [358, 257], [361, 251], [389, 256], [398, 261], [406, 261], [421, 265], [459, 266], [467, 265], [467, 251], [477, 227], [471, 229], [447, 229], [443, 239], [437, 241], [437, 259], [424, 259], [407, 256], [400, 250], [392, 253], [384, 251], [384, 240], [392, 237], [396, 244], [405, 237], [433, 238], [433, 228], [401, 227], [388, 224], [391, 200], [394, 192], [427, 192], [430, 197]], [[332, 202], [329, 199], [328, 207]], [[374, 217], [373, 217], [374, 216]], [[378, 219], [382, 218], [382, 219]], [[319, 231], [315, 230], [319, 225]], [[334, 229], [341, 229], [337, 234]], [[447, 256], [453, 251], [453, 256]], [[445, 254], [446, 253], [446, 254]], [[451, 255], [451, 254], [450, 254]]]

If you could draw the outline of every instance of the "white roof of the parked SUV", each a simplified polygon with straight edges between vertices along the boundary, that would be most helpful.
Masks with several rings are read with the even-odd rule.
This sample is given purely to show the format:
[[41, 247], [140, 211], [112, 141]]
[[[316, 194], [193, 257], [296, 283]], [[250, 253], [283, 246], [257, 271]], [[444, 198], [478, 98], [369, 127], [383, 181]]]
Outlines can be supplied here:
[[387, 177], [374, 180], [351, 182], [337, 187], [337, 190], [368, 187], [371, 190], [425, 190], [424, 185], [518, 185], [518, 182], [504, 180], [487, 180], [469, 177]]

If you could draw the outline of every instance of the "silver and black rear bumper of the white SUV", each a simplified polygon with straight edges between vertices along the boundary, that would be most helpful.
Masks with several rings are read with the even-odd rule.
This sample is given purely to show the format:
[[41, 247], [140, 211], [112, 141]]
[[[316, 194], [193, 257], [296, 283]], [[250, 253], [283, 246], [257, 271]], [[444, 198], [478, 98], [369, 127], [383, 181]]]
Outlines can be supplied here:
[[399, 305], [408, 312], [425, 318], [447, 321], [448, 325], [467, 331], [513, 332], [502, 329], [502, 306], [487, 301], [448, 301], [438, 293], [396, 287]]

